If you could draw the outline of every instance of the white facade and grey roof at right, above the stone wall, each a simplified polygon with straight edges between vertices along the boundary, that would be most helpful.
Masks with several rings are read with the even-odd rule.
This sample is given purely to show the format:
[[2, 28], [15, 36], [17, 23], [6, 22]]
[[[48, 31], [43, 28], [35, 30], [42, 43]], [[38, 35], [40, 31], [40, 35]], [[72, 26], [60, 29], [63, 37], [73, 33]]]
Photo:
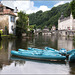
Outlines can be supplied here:
[[61, 17], [58, 20], [58, 30], [75, 30], [75, 19], [72, 14], [69, 17]]

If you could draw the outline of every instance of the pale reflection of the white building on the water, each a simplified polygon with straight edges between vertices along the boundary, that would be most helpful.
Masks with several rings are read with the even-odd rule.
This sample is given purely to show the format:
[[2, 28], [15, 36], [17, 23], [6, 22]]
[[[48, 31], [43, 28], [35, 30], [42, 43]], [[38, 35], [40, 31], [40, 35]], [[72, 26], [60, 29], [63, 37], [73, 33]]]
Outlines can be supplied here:
[[59, 37], [58, 38], [58, 49], [65, 48], [67, 50], [74, 49], [72, 37]]

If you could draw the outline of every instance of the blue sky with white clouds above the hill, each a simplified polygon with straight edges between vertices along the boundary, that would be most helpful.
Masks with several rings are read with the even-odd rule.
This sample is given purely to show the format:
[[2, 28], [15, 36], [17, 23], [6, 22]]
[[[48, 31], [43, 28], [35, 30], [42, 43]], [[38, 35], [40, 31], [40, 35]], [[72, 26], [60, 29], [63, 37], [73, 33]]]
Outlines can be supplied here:
[[39, 10], [48, 11], [52, 7], [56, 7], [61, 4], [69, 3], [71, 0], [0, 0], [3, 5], [18, 8], [18, 11], [24, 11], [27, 14], [35, 13]]

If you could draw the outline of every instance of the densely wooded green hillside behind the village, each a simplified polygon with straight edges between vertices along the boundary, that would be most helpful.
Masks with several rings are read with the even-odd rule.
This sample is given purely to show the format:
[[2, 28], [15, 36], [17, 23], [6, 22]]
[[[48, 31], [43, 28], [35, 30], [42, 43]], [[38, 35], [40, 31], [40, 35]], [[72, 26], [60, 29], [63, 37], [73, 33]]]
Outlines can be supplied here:
[[41, 29], [43, 29], [44, 26], [48, 26], [51, 29], [52, 25], [58, 27], [58, 19], [62, 12], [65, 17], [70, 15], [71, 8], [69, 3], [53, 7], [49, 11], [32, 13], [29, 15], [29, 23], [30, 25], [36, 24], [36, 27]]

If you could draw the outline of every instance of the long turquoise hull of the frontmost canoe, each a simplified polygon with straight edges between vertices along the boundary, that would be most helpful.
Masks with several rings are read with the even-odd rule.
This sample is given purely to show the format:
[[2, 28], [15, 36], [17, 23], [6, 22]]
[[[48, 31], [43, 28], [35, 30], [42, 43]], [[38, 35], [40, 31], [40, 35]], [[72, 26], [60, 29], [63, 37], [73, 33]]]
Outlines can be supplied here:
[[37, 55], [37, 54], [28, 54], [28, 53], [21, 53], [17, 51], [11, 51], [11, 54], [21, 58], [30, 58], [30, 59], [40, 59], [40, 60], [56, 60], [56, 61], [63, 61], [66, 59], [65, 56], [53, 56], [53, 55]]

